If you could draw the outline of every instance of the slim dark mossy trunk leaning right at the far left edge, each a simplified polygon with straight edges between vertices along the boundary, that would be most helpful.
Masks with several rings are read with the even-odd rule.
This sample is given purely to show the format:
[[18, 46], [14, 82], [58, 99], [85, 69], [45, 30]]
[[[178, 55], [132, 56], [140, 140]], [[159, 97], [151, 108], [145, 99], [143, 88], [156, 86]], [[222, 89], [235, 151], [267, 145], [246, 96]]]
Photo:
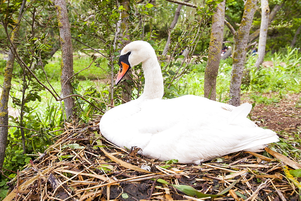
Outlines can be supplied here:
[[[20, 19], [22, 17], [23, 9], [25, 6], [26, 0], [23, 0], [22, 5], [20, 7], [20, 12], [17, 20], [17, 24], [12, 29], [11, 34], [11, 41], [13, 43], [17, 42], [19, 38], [19, 30], [20, 30]], [[6, 26], [7, 27], [7, 26]], [[8, 36], [9, 37], [9, 36]], [[3, 81], [3, 88], [2, 94], [0, 99], [0, 168], [3, 166], [4, 158], [5, 158], [5, 150], [6, 150], [6, 143], [7, 143], [7, 136], [8, 136], [8, 98], [9, 92], [11, 90], [11, 78], [14, 69], [14, 52], [16, 48], [14, 44], [11, 44], [10, 50], [8, 52], [8, 59], [6, 62], [6, 67], [4, 70], [4, 81]], [[3, 126], [2, 126], [3, 125]]]

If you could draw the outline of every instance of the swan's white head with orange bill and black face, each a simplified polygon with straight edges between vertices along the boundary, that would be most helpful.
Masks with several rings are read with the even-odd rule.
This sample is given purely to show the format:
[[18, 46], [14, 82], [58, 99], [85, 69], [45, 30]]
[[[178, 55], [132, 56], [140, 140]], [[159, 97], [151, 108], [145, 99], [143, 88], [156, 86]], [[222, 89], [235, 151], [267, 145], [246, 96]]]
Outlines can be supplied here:
[[146, 41], [133, 41], [126, 45], [119, 56], [119, 71], [115, 85], [121, 81], [133, 66], [146, 61], [152, 56], [156, 57], [156, 53], [153, 47]]

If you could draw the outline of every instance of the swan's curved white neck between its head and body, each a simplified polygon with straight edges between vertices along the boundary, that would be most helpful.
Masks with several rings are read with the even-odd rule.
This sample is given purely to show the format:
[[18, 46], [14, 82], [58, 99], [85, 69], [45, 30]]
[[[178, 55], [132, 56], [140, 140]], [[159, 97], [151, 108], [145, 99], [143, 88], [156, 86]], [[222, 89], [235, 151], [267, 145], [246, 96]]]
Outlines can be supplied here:
[[145, 84], [144, 91], [140, 98], [155, 99], [163, 97], [163, 76], [160, 64], [156, 56], [152, 56], [142, 63]]

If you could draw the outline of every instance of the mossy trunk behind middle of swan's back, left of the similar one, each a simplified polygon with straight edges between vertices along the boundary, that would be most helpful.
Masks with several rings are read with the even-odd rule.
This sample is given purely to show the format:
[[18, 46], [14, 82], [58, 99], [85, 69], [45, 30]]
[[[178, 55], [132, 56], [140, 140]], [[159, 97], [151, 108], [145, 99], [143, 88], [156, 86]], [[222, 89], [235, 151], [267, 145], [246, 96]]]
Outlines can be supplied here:
[[225, 0], [217, 5], [212, 16], [208, 61], [204, 76], [204, 97], [210, 100], [216, 100], [216, 77], [222, 53], [224, 19]]

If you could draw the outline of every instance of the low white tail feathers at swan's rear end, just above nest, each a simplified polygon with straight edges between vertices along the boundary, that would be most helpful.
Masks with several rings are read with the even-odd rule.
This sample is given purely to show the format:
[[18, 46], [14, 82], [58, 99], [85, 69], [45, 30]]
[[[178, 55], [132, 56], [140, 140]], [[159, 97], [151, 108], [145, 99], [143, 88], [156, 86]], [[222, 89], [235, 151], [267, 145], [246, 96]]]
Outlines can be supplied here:
[[247, 146], [244, 148], [244, 151], [252, 151], [252, 152], [261, 152], [261, 149], [265, 148], [265, 144], [278, 142], [279, 137], [277, 134], [269, 129], [263, 129], [263, 128], [254, 128], [256, 130], [262, 130], [257, 135], [254, 133], [254, 139], [247, 144]]

